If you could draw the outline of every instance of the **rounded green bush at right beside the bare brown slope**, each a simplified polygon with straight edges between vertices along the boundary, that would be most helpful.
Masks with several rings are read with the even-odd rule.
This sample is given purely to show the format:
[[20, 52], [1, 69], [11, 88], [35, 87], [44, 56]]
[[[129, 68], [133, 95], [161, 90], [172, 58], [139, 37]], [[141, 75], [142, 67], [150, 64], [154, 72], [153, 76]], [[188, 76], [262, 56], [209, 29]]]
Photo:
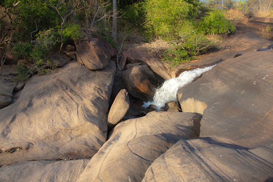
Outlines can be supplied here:
[[226, 34], [235, 31], [234, 25], [225, 19], [224, 14], [219, 10], [207, 12], [197, 25], [199, 31], [206, 34]]

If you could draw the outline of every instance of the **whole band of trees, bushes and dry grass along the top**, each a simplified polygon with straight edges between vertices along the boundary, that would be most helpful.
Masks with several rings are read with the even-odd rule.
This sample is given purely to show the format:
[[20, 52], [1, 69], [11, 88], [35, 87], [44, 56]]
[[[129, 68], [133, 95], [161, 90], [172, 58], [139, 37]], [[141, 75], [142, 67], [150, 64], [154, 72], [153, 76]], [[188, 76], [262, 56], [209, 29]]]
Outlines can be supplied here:
[[[170, 45], [163, 61], [175, 66], [217, 48], [208, 35], [233, 33], [227, 19], [273, 17], [271, 0], [2, 0], [0, 9], [0, 66], [10, 53], [24, 59], [20, 79], [54, 68], [49, 52], [82, 38], [82, 29], [99, 33], [116, 48], [133, 32], [141, 41], [162, 39]], [[113, 15], [119, 42], [112, 34]], [[269, 36], [271, 26], [263, 32]]]

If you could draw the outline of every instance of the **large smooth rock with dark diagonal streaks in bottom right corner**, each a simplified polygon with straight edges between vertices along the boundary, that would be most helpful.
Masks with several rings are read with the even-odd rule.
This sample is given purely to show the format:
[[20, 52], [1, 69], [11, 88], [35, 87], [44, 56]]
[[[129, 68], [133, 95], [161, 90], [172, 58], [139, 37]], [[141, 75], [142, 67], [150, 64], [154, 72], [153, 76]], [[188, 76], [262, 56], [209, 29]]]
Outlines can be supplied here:
[[264, 182], [273, 174], [272, 149], [248, 149], [209, 137], [180, 140], [150, 165], [142, 182]]

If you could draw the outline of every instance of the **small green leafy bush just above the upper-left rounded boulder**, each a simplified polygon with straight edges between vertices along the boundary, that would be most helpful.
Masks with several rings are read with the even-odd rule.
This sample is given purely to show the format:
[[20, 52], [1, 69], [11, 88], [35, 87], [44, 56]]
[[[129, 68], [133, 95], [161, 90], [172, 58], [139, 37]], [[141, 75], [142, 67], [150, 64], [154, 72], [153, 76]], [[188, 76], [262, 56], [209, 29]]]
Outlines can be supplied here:
[[83, 38], [84, 36], [84, 32], [81, 30], [81, 27], [76, 24], [69, 24], [62, 33], [64, 39], [77, 40]]

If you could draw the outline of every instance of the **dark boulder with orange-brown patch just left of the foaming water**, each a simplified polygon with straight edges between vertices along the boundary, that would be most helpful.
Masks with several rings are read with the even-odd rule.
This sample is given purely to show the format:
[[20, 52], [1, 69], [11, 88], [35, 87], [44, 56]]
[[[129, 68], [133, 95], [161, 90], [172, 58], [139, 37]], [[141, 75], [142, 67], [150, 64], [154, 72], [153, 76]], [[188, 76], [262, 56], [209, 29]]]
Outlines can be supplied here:
[[153, 98], [159, 80], [145, 65], [133, 66], [122, 72], [122, 81], [128, 92], [143, 101]]

